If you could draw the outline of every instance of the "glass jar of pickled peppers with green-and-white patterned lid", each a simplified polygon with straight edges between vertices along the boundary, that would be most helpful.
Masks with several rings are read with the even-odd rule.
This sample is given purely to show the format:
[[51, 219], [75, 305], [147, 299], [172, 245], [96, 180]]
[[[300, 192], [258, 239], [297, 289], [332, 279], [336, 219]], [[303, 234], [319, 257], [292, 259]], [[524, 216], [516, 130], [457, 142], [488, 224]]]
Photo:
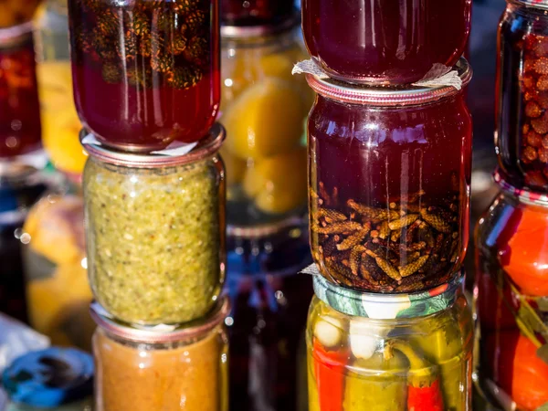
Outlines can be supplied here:
[[314, 278], [310, 411], [471, 409], [472, 318], [462, 277], [382, 296]]

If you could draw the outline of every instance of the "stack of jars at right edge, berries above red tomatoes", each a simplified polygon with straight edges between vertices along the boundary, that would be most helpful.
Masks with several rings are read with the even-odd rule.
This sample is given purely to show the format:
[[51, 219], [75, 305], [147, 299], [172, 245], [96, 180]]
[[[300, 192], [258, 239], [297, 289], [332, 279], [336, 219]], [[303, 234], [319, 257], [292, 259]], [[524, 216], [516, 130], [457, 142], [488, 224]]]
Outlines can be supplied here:
[[509, 0], [498, 43], [501, 193], [476, 228], [477, 383], [492, 406], [534, 410], [548, 404], [548, 2]]

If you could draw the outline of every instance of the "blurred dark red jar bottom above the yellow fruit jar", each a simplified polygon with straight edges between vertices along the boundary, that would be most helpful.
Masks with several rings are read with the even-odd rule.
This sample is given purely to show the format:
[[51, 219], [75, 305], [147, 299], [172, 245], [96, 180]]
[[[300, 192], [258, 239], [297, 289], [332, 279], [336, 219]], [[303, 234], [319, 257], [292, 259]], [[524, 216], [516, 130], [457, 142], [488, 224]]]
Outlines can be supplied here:
[[294, 4], [294, 0], [221, 0], [221, 24], [275, 25], [295, 12]]

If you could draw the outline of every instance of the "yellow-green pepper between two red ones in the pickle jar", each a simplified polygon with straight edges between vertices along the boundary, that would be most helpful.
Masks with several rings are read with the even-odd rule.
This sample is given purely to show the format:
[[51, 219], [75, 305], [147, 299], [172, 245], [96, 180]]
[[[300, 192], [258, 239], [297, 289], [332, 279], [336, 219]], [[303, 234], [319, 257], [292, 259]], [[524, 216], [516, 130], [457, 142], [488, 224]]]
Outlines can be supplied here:
[[355, 360], [346, 375], [344, 411], [405, 411], [408, 363], [401, 353]]

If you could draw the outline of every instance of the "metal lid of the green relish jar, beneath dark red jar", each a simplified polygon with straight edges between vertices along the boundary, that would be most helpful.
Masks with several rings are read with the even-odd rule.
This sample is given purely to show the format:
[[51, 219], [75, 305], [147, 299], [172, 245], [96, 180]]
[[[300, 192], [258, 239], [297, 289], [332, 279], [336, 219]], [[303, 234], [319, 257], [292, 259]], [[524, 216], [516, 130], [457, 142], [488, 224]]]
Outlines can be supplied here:
[[[80, 142], [88, 134], [89, 132], [86, 129], [82, 129], [79, 135]], [[98, 144], [82, 143], [82, 145], [86, 152], [90, 154], [90, 157], [102, 163], [134, 168], [156, 168], [195, 163], [203, 160], [218, 152], [221, 144], [225, 141], [225, 136], [225, 128], [216, 122], [209, 130], [208, 135], [200, 140], [189, 153], [173, 156], [119, 152]]]

